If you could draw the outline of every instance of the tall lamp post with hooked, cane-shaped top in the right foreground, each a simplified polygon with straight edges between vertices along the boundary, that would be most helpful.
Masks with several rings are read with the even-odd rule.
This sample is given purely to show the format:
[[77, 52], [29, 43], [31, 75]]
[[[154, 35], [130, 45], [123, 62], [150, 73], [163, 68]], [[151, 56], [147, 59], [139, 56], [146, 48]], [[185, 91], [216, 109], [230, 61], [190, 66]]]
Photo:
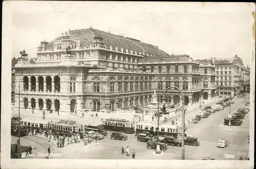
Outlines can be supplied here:
[[163, 99], [165, 100], [165, 93], [167, 90], [169, 90], [170, 88], [176, 88], [178, 90], [180, 90], [181, 94], [182, 94], [182, 146], [181, 146], [181, 159], [184, 160], [185, 159], [185, 148], [184, 148], [184, 137], [185, 137], [185, 99], [184, 99], [184, 93], [181, 91], [181, 89], [179, 87], [176, 86], [170, 86], [167, 89], [165, 89], [164, 93], [163, 93]]

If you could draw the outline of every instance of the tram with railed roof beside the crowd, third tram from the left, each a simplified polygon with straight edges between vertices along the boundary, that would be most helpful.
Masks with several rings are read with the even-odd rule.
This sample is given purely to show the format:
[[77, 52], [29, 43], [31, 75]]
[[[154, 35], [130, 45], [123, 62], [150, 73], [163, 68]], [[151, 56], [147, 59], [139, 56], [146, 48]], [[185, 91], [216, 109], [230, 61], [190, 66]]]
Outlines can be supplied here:
[[63, 119], [59, 122], [49, 122], [49, 128], [52, 129], [54, 134], [58, 133], [59, 135], [81, 134], [83, 130], [82, 124], [77, 124], [77, 122], [73, 120]]

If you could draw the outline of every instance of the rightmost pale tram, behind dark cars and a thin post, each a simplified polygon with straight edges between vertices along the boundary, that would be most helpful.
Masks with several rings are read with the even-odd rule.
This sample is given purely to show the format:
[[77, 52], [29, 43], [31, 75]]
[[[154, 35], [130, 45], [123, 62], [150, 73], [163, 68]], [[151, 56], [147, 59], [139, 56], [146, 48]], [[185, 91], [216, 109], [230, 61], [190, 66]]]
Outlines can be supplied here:
[[[150, 132], [153, 136], [157, 136], [158, 128], [153, 123], [137, 123], [136, 133]], [[176, 125], [159, 125], [159, 136], [173, 136], [178, 137], [178, 126]]]

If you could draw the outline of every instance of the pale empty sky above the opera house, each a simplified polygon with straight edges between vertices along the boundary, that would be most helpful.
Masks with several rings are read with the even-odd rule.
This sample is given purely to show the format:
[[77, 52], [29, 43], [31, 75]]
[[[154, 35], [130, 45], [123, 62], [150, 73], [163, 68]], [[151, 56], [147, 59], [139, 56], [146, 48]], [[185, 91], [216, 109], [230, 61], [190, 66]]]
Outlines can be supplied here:
[[12, 56], [36, 57], [40, 41], [66, 30], [95, 28], [158, 45], [194, 60], [238, 55], [250, 64], [254, 49], [249, 3], [16, 2], [12, 4]]

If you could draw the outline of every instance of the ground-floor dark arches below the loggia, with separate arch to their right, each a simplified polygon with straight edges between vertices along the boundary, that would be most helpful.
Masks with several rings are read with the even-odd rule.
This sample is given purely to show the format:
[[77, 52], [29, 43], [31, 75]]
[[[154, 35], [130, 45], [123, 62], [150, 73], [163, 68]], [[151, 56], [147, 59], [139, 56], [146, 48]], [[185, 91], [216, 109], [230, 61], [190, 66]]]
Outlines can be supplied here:
[[[23, 102], [24, 102], [24, 108], [28, 109], [29, 107], [31, 107], [32, 109], [46, 109], [46, 110], [53, 110], [53, 111], [59, 111], [60, 109], [60, 101], [58, 99], [54, 99], [53, 101], [51, 99], [46, 99], [45, 102], [43, 99], [39, 98], [37, 100], [38, 104], [36, 104], [36, 99], [31, 98], [30, 102], [28, 98], [23, 98]], [[29, 103], [31, 105], [29, 105]], [[77, 102], [75, 99], [72, 99], [70, 101], [70, 111], [71, 112], [75, 112], [76, 110], [76, 105]]]

